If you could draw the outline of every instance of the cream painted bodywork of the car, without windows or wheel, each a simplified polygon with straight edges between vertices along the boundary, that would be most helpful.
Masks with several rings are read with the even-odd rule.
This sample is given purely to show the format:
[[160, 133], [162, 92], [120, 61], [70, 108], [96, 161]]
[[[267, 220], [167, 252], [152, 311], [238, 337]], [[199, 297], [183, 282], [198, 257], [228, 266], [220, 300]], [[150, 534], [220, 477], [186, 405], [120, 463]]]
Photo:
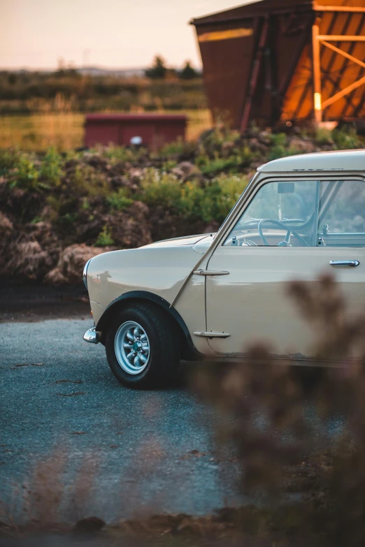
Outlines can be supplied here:
[[[313, 330], [287, 297], [287, 282], [314, 282], [320, 273], [335, 273], [350, 313], [362, 311], [365, 247], [242, 248], [223, 243], [266, 182], [341, 178], [365, 184], [364, 150], [275, 160], [259, 168], [217, 234], [164, 240], [92, 258], [87, 288], [94, 321], [120, 296], [148, 291], [176, 309], [203, 354], [234, 358], [252, 342], [266, 340], [273, 342], [275, 355], [313, 358]], [[359, 260], [360, 265], [334, 270], [329, 266], [331, 260]], [[225, 270], [229, 275], [199, 275], [198, 268], [218, 274]], [[219, 337], [194, 335], [203, 331]], [[222, 333], [230, 336], [221, 337]]]

